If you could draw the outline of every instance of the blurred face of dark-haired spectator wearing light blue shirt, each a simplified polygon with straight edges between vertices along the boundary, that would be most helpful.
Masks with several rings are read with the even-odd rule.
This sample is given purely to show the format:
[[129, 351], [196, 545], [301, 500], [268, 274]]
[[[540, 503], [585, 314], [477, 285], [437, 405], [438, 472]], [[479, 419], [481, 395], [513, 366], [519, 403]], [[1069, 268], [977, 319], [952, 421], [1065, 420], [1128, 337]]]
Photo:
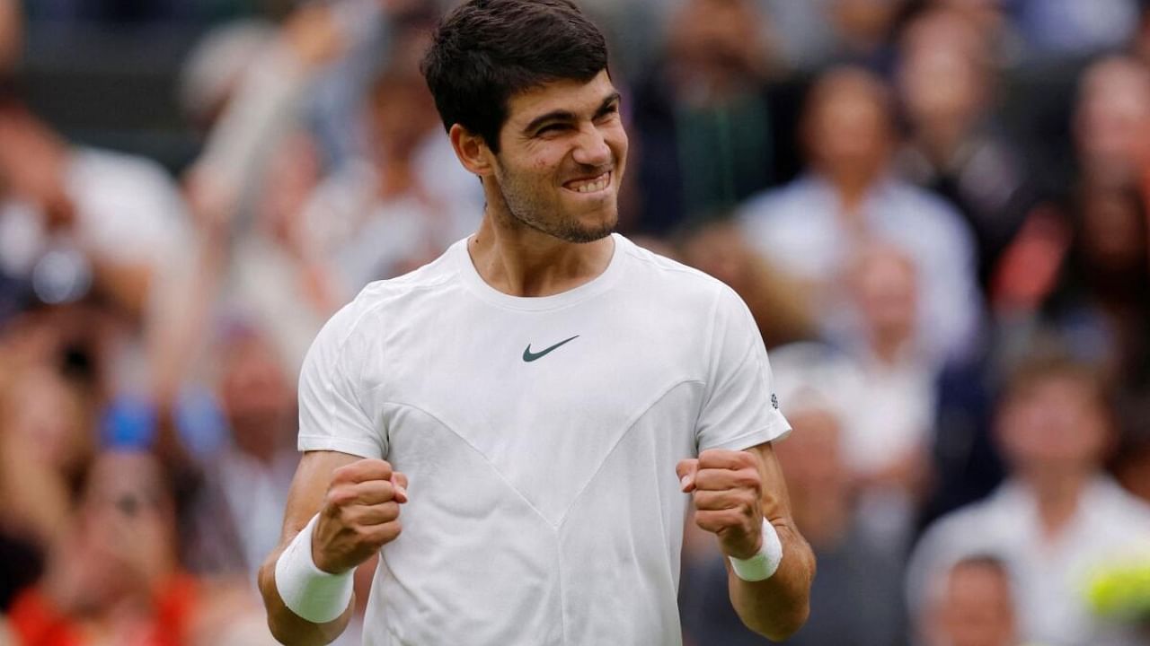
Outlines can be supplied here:
[[839, 69], [811, 91], [804, 134], [811, 161], [831, 178], [872, 176], [885, 166], [891, 122], [885, 89], [860, 69]]

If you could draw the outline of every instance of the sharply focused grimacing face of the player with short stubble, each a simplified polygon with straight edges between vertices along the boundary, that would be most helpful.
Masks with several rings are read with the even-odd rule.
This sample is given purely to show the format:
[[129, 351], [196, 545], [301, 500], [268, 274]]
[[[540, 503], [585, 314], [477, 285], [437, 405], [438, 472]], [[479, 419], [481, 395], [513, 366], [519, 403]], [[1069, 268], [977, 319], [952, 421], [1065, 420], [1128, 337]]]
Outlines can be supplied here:
[[628, 139], [607, 71], [520, 92], [507, 107], [491, 162], [498, 206], [513, 222], [568, 243], [608, 236], [619, 222]]

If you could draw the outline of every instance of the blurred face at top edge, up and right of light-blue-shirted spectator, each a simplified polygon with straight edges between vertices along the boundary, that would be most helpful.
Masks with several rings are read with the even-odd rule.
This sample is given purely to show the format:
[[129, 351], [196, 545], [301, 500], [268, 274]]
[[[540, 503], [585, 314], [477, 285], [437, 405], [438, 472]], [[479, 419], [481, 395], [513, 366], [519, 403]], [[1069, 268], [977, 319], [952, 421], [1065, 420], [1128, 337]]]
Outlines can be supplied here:
[[954, 11], [931, 11], [907, 29], [897, 83], [907, 116], [917, 125], [966, 122], [981, 111], [987, 86], [980, 62], [987, 44]]

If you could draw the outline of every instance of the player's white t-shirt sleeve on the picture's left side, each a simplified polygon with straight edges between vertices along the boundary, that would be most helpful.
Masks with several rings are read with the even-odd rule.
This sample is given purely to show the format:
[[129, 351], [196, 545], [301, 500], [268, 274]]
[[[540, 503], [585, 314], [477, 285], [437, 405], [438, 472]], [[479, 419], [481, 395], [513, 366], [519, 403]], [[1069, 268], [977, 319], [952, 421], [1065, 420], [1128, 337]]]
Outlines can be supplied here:
[[338, 451], [383, 459], [384, 433], [371, 422], [361, 398], [361, 370], [352, 364], [358, 308], [339, 310], [312, 343], [299, 377], [299, 449]]

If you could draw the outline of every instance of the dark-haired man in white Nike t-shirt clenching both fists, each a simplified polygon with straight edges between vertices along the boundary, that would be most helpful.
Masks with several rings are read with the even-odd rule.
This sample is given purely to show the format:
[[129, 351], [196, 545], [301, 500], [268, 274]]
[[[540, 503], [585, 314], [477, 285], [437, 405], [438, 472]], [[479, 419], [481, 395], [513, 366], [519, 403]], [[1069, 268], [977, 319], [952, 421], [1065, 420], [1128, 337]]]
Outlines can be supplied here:
[[685, 491], [741, 618], [785, 638], [814, 570], [770, 446], [789, 426], [734, 292], [611, 234], [627, 134], [603, 36], [569, 0], [473, 0], [424, 74], [488, 206], [313, 345], [260, 576], [273, 632], [334, 639], [378, 552], [371, 646], [680, 644]]

